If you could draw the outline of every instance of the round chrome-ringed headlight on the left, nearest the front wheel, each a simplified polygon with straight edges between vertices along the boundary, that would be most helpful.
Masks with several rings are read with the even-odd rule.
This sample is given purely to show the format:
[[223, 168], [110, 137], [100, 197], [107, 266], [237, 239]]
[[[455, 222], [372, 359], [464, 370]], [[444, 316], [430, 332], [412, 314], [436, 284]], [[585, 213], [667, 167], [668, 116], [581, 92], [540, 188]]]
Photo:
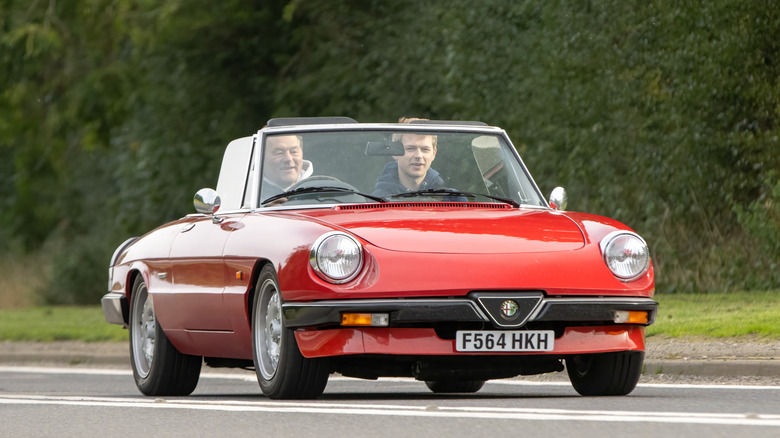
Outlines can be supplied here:
[[312, 245], [309, 262], [323, 280], [346, 283], [355, 278], [363, 266], [363, 248], [348, 234], [326, 233]]

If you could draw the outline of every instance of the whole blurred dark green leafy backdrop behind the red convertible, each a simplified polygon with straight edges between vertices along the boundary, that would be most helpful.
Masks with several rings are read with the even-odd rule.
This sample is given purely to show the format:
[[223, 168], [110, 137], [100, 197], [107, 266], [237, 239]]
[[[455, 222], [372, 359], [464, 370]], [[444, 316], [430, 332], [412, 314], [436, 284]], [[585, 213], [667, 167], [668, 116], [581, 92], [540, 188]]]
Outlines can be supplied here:
[[230, 140], [323, 115], [501, 126], [658, 291], [780, 286], [771, 0], [0, 0], [0, 65], [0, 261], [36, 302], [96, 303]]

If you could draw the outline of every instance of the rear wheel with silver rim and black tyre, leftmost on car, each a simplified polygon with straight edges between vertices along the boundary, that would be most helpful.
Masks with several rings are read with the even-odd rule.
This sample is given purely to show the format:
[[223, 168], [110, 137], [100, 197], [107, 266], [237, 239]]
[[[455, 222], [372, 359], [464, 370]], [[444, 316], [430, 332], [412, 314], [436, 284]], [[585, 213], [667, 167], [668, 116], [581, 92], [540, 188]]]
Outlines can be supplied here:
[[181, 354], [157, 323], [154, 305], [139, 275], [130, 296], [130, 363], [145, 395], [189, 395], [200, 378], [203, 358]]

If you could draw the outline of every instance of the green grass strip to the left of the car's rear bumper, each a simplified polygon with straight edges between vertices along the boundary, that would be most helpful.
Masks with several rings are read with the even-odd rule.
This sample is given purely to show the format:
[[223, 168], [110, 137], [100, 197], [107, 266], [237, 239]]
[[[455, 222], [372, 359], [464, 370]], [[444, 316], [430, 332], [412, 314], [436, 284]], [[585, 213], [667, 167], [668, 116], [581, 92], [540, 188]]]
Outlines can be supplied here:
[[100, 306], [0, 309], [3, 341], [127, 341], [127, 330], [109, 324]]

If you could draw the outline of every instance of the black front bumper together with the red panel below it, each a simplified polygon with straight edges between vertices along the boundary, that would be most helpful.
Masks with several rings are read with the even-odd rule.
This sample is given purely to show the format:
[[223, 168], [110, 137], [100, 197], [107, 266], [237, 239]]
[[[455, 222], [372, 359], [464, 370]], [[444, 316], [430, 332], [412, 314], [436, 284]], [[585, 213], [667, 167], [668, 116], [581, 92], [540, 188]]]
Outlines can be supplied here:
[[[504, 304], [517, 303], [517, 316], [504, 318]], [[541, 292], [472, 293], [463, 298], [367, 299], [288, 302], [285, 324], [295, 329], [304, 357], [342, 355], [484, 355], [455, 348], [455, 332], [553, 329], [552, 351], [535, 355], [644, 350], [645, 326], [658, 303], [644, 297], [546, 297]], [[616, 312], [647, 312], [647, 323], [615, 323]], [[344, 313], [386, 313], [386, 327], [343, 327]], [[502, 354], [502, 353], [500, 353]], [[516, 353], [509, 353], [516, 354]], [[519, 353], [524, 354], [524, 353]]]

